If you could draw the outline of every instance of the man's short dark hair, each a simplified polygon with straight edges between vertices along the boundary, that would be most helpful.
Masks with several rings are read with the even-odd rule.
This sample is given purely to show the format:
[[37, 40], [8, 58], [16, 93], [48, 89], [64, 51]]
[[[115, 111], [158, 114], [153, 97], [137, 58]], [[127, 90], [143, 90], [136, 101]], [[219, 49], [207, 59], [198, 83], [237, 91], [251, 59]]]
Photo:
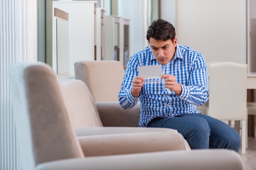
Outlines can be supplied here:
[[151, 23], [148, 27], [147, 31], [147, 40], [149, 42], [149, 38], [152, 37], [156, 40], [163, 40], [167, 41], [168, 39], [173, 40], [175, 39], [176, 33], [174, 26], [163, 19], [157, 19]]

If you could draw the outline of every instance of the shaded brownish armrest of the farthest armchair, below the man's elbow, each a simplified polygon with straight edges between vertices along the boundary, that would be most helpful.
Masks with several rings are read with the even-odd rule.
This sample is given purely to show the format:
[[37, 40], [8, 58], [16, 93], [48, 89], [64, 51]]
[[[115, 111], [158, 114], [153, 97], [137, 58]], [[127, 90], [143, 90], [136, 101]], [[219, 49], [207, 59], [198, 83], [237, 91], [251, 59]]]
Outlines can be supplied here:
[[140, 103], [123, 109], [119, 102], [95, 102], [103, 126], [139, 126]]

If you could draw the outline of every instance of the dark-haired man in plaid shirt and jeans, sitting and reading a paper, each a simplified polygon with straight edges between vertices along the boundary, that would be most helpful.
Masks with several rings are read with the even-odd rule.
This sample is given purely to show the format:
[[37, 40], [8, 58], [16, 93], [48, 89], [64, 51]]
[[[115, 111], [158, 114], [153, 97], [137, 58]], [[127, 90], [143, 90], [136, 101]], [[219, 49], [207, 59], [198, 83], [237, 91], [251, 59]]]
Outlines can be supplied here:
[[[191, 149], [227, 148], [238, 152], [240, 136], [224, 122], [201, 114], [209, 98], [207, 64], [201, 52], [177, 44], [175, 28], [158, 19], [149, 26], [150, 46], [130, 57], [119, 92], [124, 109], [140, 100], [140, 127], [177, 129]], [[164, 83], [144, 84], [138, 66], [161, 65]]]

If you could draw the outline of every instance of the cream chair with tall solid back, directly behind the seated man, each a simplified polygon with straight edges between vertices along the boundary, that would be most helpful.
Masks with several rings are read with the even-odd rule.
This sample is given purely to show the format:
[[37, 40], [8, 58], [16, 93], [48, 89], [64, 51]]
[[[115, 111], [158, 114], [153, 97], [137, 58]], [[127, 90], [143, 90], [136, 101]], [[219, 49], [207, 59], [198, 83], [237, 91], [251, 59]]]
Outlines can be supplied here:
[[218, 120], [240, 120], [241, 153], [247, 141], [247, 64], [221, 62], [208, 66], [209, 107], [207, 115]]

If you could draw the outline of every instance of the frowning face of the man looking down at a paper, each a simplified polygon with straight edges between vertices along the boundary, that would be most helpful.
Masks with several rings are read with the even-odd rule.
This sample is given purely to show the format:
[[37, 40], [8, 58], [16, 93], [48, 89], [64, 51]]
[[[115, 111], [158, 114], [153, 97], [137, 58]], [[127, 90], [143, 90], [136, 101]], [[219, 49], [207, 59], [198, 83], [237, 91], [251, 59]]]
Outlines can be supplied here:
[[177, 39], [175, 38], [172, 42], [170, 39], [163, 41], [150, 37], [149, 44], [151, 51], [158, 63], [165, 65], [173, 58], [175, 47], [177, 46]]

